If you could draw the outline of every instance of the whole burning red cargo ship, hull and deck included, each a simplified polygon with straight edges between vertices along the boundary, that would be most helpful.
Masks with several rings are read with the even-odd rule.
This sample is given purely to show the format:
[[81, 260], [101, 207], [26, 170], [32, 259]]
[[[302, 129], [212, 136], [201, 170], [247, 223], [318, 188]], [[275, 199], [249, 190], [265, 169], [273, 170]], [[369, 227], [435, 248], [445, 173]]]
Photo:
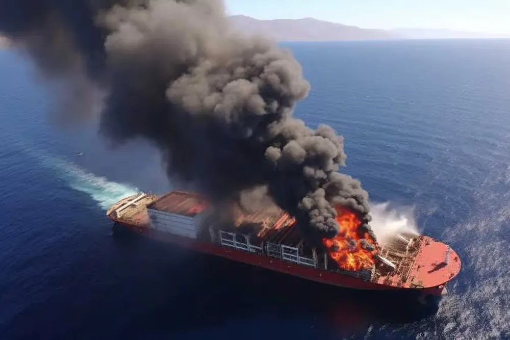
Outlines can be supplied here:
[[461, 269], [448, 245], [428, 236], [398, 235], [391, 246], [377, 248], [372, 266], [346, 270], [327, 248], [301, 238], [295, 219], [282, 210], [220, 219], [209, 201], [184, 191], [124, 197], [107, 217], [115, 226], [161, 242], [350, 289], [441, 296]]

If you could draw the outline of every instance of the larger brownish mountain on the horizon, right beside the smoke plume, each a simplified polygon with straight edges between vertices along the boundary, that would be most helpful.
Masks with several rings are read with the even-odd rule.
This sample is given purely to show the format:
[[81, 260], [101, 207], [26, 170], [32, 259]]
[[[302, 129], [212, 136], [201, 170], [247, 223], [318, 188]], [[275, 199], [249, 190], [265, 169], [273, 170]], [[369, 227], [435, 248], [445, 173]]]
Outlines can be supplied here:
[[277, 41], [336, 41], [399, 39], [396, 33], [367, 30], [340, 23], [304, 19], [258, 20], [244, 15], [229, 17], [233, 27], [248, 35], [263, 35]]

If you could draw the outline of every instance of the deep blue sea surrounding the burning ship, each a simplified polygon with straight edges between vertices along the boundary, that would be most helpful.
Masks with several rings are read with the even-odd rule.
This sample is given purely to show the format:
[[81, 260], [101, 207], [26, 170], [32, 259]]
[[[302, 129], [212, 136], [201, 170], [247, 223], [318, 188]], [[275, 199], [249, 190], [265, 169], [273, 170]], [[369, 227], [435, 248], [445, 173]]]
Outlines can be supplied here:
[[372, 201], [415, 205], [460, 254], [437, 310], [110, 237], [109, 204], [171, 188], [158, 154], [57, 128], [50, 89], [1, 50], [0, 338], [510, 337], [510, 41], [290, 47], [312, 84], [296, 115], [345, 137]]

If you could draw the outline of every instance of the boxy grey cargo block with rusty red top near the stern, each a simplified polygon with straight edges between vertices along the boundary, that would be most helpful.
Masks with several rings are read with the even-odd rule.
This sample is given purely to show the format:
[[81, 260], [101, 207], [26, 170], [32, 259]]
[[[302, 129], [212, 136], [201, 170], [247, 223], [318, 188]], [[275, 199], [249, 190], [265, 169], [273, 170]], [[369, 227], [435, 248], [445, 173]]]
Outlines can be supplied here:
[[151, 228], [197, 239], [204, 226], [209, 204], [198, 195], [171, 192], [147, 205]]

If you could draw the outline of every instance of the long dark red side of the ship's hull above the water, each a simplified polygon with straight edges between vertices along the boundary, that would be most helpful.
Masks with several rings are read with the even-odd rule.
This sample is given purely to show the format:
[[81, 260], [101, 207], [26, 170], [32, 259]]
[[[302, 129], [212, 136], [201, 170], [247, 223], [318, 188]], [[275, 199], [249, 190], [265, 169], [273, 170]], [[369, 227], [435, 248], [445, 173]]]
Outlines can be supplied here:
[[120, 222], [112, 219], [117, 226], [125, 228], [131, 232], [139, 234], [143, 237], [163, 242], [167, 244], [174, 244], [184, 248], [191, 249], [200, 253], [205, 253], [214, 256], [220, 256], [226, 259], [237, 261], [240, 263], [253, 265], [256, 267], [265, 268], [268, 270], [292, 275], [306, 280], [312, 280], [323, 284], [334, 285], [338, 287], [356, 289], [356, 290], [370, 290], [370, 291], [402, 291], [402, 292], [415, 292], [423, 295], [441, 296], [443, 294], [444, 286], [430, 287], [430, 288], [412, 288], [412, 287], [396, 287], [391, 285], [380, 284], [371, 281], [365, 281], [359, 278], [339, 275], [338, 273], [309, 268], [297, 264], [289, 264], [287, 261], [276, 259], [269, 256], [261, 256], [254, 253], [249, 253], [242, 250], [225, 248], [213, 243], [200, 242], [191, 240], [186, 237], [177, 236], [171, 233], [140, 227], [137, 225]]

